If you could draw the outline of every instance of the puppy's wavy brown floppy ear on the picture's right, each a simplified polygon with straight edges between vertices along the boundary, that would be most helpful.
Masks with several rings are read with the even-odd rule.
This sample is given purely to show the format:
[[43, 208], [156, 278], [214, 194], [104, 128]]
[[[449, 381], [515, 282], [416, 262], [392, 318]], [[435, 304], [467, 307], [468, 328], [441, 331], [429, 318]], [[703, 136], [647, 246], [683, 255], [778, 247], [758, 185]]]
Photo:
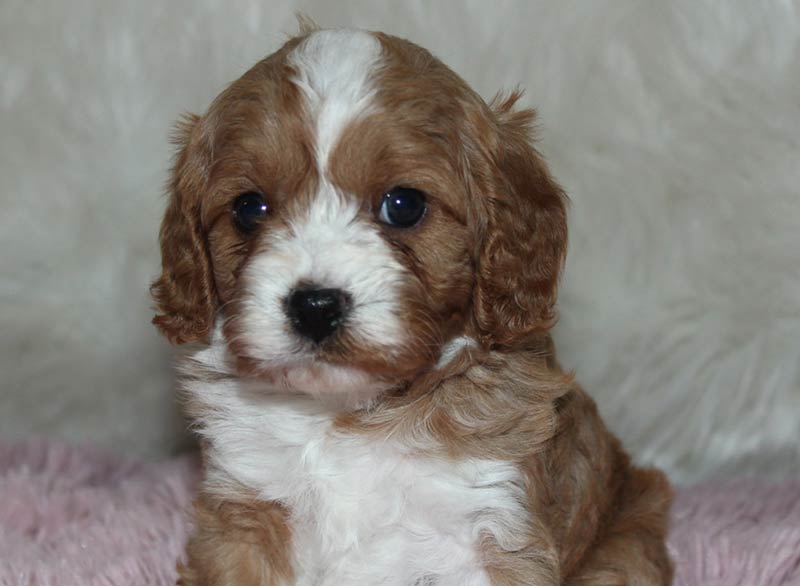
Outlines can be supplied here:
[[514, 111], [519, 92], [491, 104], [497, 136], [484, 194], [475, 319], [484, 341], [513, 347], [555, 323], [567, 248], [567, 198], [531, 145], [533, 110]]

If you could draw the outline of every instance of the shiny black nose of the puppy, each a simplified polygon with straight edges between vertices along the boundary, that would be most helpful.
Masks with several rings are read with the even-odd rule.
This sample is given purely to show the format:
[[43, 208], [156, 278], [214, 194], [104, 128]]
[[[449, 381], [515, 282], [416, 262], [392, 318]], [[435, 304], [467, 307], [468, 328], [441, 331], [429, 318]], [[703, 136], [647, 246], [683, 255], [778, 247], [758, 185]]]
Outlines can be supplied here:
[[347, 296], [339, 289], [295, 289], [286, 303], [295, 331], [315, 342], [335, 332], [346, 311]]

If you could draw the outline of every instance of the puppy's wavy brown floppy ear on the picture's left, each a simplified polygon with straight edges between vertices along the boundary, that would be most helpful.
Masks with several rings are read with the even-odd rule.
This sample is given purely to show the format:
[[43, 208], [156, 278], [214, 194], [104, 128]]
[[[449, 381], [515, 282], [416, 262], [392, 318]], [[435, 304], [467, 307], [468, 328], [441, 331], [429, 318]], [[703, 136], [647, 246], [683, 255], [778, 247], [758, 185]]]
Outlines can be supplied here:
[[179, 151], [160, 232], [162, 274], [150, 287], [156, 304], [153, 323], [173, 344], [205, 339], [217, 305], [201, 226], [200, 194], [209, 154], [202, 125], [199, 116], [190, 115], [176, 127]]

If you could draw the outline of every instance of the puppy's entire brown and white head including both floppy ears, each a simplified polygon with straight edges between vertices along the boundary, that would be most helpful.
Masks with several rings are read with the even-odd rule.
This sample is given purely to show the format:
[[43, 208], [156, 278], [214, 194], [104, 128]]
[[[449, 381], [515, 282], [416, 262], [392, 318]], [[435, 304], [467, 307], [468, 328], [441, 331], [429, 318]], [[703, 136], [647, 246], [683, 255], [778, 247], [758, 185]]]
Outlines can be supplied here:
[[179, 128], [155, 324], [184, 343], [219, 318], [242, 374], [354, 399], [460, 335], [524, 345], [566, 220], [515, 99], [393, 37], [290, 40]]

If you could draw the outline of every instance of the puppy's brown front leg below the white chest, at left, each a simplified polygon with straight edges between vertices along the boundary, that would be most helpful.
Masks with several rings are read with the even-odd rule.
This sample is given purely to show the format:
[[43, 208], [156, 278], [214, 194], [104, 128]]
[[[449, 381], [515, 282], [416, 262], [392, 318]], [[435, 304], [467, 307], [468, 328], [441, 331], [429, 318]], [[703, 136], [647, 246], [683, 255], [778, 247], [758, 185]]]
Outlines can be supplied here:
[[195, 501], [195, 534], [178, 567], [178, 586], [288, 586], [286, 511], [276, 503]]

